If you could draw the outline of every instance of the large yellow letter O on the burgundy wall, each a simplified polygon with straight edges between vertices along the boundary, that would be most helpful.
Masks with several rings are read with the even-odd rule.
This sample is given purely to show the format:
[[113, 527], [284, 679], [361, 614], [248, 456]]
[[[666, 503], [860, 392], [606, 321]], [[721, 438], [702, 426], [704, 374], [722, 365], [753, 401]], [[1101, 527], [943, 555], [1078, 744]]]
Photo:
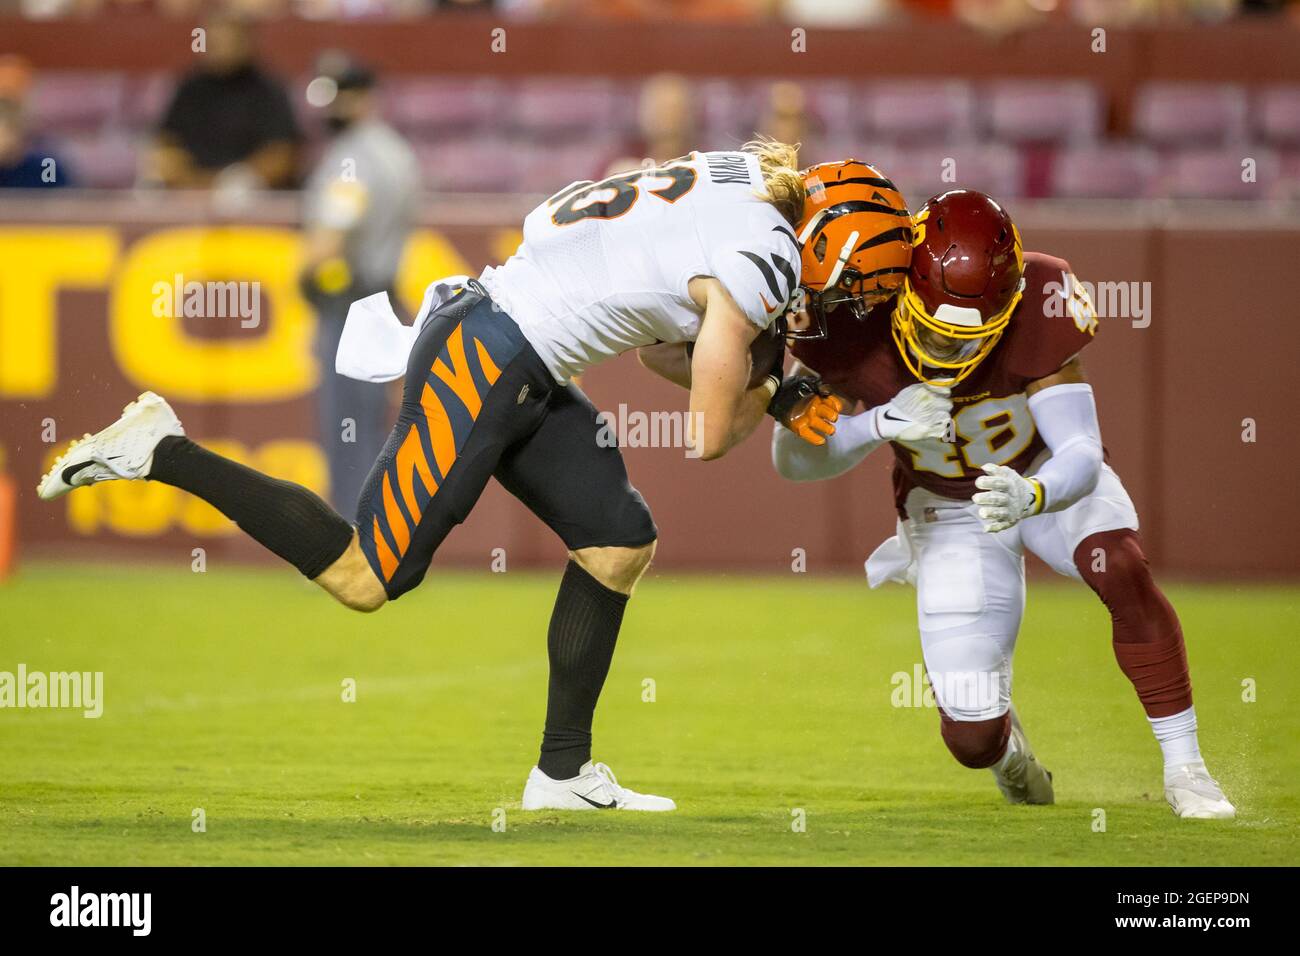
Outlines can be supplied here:
[[[299, 237], [263, 226], [162, 229], [126, 251], [113, 284], [109, 339], [122, 372], [146, 389], [190, 402], [269, 402], [316, 386], [315, 316], [298, 293]], [[244, 316], [191, 321], [214, 338], [156, 315], [157, 284], [257, 282], [259, 324]]]

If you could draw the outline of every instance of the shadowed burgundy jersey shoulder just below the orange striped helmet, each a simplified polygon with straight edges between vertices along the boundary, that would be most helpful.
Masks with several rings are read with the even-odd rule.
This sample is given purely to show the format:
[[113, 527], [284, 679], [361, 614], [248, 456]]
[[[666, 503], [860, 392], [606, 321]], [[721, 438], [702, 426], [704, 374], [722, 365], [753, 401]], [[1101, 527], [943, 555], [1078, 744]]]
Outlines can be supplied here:
[[801, 338], [790, 352], [822, 381], [868, 408], [893, 398], [915, 381], [897, 360], [889, 316], [893, 303], [872, 308], [864, 319], [846, 310], [827, 313], [826, 338]]

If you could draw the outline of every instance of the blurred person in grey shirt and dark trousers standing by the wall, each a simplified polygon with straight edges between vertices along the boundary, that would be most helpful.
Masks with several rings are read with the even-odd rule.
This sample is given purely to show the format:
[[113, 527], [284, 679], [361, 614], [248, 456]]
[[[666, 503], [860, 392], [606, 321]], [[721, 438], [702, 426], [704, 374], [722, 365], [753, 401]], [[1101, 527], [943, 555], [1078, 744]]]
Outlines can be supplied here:
[[300, 285], [316, 310], [321, 363], [320, 440], [329, 459], [330, 498], [352, 509], [389, 434], [386, 390], [334, 373], [348, 306], [394, 287], [420, 198], [411, 146], [378, 114], [374, 74], [326, 53], [308, 99], [332, 134], [303, 198], [306, 252]]

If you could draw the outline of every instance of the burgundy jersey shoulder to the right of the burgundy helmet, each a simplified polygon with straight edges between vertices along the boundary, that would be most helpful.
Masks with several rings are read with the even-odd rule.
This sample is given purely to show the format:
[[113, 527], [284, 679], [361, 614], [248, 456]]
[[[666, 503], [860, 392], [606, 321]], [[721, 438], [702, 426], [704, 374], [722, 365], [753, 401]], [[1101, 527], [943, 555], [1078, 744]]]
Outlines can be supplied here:
[[1097, 332], [1097, 313], [1070, 263], [1043, 252], [1024, 254], [1024, 297], [997, 351], [1006, 371], [1035, 381], [1078, 355]]

